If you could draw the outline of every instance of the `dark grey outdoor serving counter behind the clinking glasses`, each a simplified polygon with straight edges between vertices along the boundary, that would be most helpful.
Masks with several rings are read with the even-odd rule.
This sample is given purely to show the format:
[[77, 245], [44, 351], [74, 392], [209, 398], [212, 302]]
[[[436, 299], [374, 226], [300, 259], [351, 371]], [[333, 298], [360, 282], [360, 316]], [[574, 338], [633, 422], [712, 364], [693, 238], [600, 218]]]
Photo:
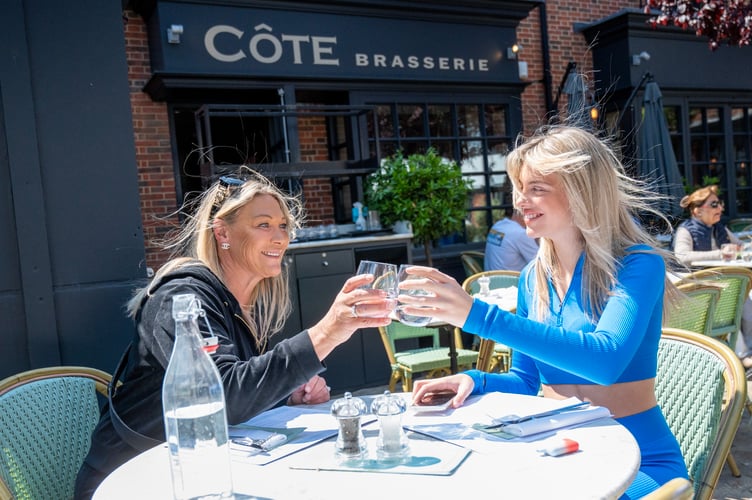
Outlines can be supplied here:
[[[317, 323], [361, 260], [412, 263], [412, 233], [364, 234], [290, 244], [285, 255], [293, 312], [272, 343]], [[389, 382], [391, 368], [375, 328], [358, 330], [325, 360], [323, 373], [333, 391]]]

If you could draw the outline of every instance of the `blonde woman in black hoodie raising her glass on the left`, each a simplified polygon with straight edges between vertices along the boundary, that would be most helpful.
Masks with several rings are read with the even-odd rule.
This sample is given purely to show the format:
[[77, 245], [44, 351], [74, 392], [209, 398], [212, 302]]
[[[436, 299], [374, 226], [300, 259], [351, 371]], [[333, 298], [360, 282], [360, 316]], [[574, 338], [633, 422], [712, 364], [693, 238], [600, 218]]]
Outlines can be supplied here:
[[[323, 359], [358, 328], [390, 323], [393, 303], [379, 290], [358, 288], [373, 276], [355, 276], [321, 321], [269, 347], [291, 312], [282, 259], [301, 226], [302, 207], [260, 174], [246, 173], [247, 179], [222, 177], [186, 207], [195, 210], [166, 244], [173, 258], [128, 303], [136, 330], [113, 377], [122, 385], [94, 430], [76, 498], [90, 498], [111, 471], [165, 440], [162, 381], [175, 339], [173, 296], [194, 294], [218, 337], [211, 357], [230, 425], [285, 400], [328, 401], [329, 387], [319, 376]], [[210, 336], [207, 322], [199, 321], [203, 336]]]

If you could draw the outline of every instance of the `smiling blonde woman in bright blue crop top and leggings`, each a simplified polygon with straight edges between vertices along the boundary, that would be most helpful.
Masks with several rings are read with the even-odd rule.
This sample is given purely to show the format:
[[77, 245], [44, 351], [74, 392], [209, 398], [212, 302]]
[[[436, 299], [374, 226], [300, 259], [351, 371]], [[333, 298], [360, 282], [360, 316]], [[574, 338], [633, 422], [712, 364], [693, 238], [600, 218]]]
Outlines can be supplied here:
[[[585, 130], [542, 129], [507, 158], [515, 207], [540, 251], [522, 271], [517, 312], [473, 300], [451, 277], [412, 267], [433, 297], [401, 295], [409, 314], [425, 314], [514, 350], [508, 373], [471, 370], [416, 381], [427, 392], [457, 392], [452, 405], [490, 391], [577, 397], [605, 406], [640, 445], [640, 472], [623, 498], [640, 498], [687, 477], [676, 438], [655, 399], [666, 278], [671, 255], [636, 223], [655, 196], [624, 174], [608, 145]], [[660, 215], [660, 214], [659, 214]], [[664, 293], [665, 292], [665, 293]]]

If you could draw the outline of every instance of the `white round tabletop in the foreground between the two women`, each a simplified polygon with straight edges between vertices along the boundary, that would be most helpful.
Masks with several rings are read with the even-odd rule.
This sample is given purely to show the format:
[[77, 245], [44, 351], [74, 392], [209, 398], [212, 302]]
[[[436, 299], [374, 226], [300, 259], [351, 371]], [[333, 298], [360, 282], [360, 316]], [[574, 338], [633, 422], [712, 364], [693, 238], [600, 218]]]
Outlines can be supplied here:
[[[503, 395], [514, 398], [532, 396]], [[498, 395], [497, 395], [498, 397]], [[496, 408], [498, 401], [494, 404]], [[507, 409], [513, 409], [513, 405]], [[459, 412], [459, 410], [455, 410]], [[369, 429], [368, 426], [365, 429]], [[371, 426], [372, 433], [377, 424]], [[580, 451], [559, 457], [536, 450], [540, 442], [494, 442], [491, 452], [471, 451], [451, 475], [315, 470], [316, 460], [333, 451], [333, 439], [267, 465], [232, 461], [237, 498], [337, 500], [404, 498], [618, 498], [640, 465], [637, 443], [610, 418], [558, 434], [576, 440]], [[412, 439], [433, 439], [411, 434]], [[487, 443], [486, 443], [487, 444]], [[441, 442], [442, 446], [454, 444]], [[318, 457], [318, 458], [317, 458]], [[311, 470], [290, 465], [310, 460]], [[172, 498], [166, 445], [157, 446], [116, 469], [100, 485], [95, 500]]]

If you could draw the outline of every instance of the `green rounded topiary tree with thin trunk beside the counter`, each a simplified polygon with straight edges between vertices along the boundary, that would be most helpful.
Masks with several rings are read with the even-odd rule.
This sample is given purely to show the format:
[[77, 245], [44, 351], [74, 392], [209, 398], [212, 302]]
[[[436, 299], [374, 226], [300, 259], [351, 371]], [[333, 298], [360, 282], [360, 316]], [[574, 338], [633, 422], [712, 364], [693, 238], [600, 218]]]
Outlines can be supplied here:
[[408, 157], [400, 151], [384, 159], [367, 177], [365, 198], [369, 208], [379, 211], [384, 224], [412, 223], [413, 235], [423, 243], [432, 266], [431, 242], [464, 227], [471, 186], [459, 165], [433, 148]]

